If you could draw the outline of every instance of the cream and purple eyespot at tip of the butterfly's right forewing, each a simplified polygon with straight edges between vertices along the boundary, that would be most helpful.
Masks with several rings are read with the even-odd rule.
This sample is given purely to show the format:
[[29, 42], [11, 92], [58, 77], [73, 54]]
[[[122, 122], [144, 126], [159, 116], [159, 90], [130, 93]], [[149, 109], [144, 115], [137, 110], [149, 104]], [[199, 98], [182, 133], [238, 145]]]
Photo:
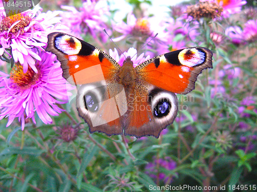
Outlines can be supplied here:
[[183, 49], [178, 54], [178, 60], [183, 66], [195, 67], [206, 60], [206, 53], [197, 48]]

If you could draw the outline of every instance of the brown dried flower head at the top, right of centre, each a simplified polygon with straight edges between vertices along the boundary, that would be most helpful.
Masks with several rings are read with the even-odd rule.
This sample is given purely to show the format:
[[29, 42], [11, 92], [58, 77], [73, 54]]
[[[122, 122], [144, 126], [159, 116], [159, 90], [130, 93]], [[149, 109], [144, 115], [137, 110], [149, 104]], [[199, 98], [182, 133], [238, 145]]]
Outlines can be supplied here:
[[213, 19], [220, 17], [222, 12], [223, 7], [214, 2], [199, 2], [198, 4], [188, 6], [186, 11], [188, 16], [192, 16], [194, 19], [202, 17]]

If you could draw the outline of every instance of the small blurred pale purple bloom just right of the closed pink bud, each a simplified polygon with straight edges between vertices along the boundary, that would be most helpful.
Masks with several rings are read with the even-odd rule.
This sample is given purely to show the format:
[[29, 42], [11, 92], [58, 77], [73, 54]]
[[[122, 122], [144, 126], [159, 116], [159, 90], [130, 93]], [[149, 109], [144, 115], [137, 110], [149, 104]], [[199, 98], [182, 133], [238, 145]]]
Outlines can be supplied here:
[[240, 27], [234, 26], [226, 29], [225, 34], [231, 39], [234, 45], [240, 45], [243, 42], [243, 31]]

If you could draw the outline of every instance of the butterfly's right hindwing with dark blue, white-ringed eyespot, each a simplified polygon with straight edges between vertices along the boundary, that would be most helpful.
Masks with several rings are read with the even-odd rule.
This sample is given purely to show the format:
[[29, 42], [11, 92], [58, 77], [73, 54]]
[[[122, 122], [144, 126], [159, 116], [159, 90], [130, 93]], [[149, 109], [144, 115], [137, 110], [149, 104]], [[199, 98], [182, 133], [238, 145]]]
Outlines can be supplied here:
[[131, 108], [128, 108], [127, 126], [124, 135], [137, 138], [142, 136], [159, 137], [160, 132], [173, 123], [178, 110], [178, 101], [174, 93], [149, 84], [147, 92], [135, 89], [136, 95]]

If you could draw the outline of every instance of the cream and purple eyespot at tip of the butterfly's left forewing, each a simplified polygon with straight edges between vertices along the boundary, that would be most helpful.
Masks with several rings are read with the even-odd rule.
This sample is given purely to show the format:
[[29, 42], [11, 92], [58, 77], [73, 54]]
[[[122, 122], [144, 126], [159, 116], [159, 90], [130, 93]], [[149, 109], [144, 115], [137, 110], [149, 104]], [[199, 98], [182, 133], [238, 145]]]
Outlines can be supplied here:
[[69, 35], [56, 36], [54, 42], [56, 48], [67, 55], [77, 55], [82, 48], [81, 42]]

